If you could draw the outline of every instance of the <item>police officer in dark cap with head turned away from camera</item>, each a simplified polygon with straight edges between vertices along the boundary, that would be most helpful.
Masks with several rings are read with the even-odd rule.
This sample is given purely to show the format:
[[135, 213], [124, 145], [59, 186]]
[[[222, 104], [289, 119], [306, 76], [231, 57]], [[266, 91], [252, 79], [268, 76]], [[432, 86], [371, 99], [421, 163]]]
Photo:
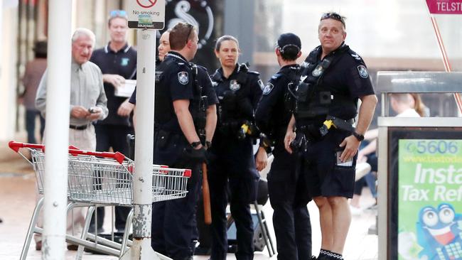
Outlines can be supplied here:
[[303, 174], [296, 172], [296, 156], [284, 149], [284, 136], [291, 119], [288, 87], [297, 82], [301, 55], [301, 40], [294, 33], [279, 36], [276, 58], [281, 66], [267, 83], [255, 112], [255, 121], [267, 141], [260, 143], [270, 148], [274, 143], [274, 161], [268, 173], [269, 201], [273, 207], [273, 226], [276, 234], [278, 259], [311, 257], [311, 222], [306, 207], [310, 200]]

